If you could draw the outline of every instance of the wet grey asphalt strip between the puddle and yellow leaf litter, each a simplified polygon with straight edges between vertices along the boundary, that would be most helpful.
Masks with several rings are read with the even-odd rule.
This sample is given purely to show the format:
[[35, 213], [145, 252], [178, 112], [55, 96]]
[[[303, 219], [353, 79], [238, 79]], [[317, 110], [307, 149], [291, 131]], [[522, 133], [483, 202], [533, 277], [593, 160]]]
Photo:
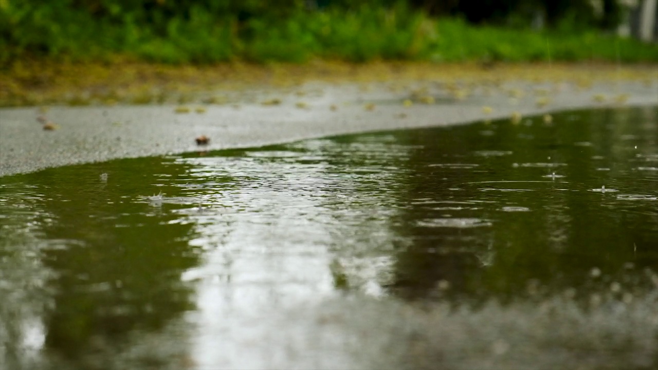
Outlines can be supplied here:
[[[601, 82], [586, 90], [567, 82], [514, 82], [494, 90], [476, 87], [463, 99], [435, 85], [425, 93], [434, 102], [415, 101], [411, 106], [403, 101], [411, 97], [413, 86], [398, 92], [386, 86], [371, 84], [365, 91], [357, 84], [309, 84], [305, 88], [312, 93], [303, 97], [253, 92], [239, 104], [205, 105], [201, 113], [195, 111], [198, 105], [190, 105], [190, 113], [176, 113], [172, 105], [50, 107], [45, 113], [36, 107], [0, 109], [0, 176], [124, 157], [465, 124], [515, 112], [527, 116], [586, 107], [658, 105], [658, 80]], [[539, 107], [544, 95], [549, 103]], [[623, 103], [620, 95], [627, 97]], [[263, 104], [273, 96], [281, 103]], [[40, 115], [57, 124], [57, 130], [43, 130]], [[196, 144], [201, 135], [210, 139], [209, 144]]]

